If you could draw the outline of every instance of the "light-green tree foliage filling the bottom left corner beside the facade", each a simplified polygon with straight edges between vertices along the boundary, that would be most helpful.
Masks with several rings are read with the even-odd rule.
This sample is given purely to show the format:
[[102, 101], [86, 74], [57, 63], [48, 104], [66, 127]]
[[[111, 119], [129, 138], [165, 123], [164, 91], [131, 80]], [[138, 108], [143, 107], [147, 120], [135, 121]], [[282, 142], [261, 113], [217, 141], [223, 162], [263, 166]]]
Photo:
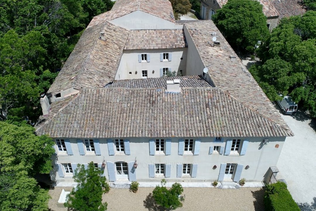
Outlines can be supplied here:
[[0, 122], [0, 207], [3, 211], [46, 211], [48, 191], [32, 177], [52, 170], [53, 141], [36, 136], [26, 122]]

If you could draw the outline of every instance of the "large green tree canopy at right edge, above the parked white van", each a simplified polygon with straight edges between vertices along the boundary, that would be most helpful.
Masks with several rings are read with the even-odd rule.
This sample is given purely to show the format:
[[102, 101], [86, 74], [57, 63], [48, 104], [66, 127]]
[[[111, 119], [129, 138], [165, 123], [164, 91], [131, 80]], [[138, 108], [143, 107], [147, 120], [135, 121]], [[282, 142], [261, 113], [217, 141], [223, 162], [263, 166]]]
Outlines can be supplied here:
[[290, 95], [316, 116], [316, 11], [282, 19], [258, 49], [250, 72], [271, 101]]

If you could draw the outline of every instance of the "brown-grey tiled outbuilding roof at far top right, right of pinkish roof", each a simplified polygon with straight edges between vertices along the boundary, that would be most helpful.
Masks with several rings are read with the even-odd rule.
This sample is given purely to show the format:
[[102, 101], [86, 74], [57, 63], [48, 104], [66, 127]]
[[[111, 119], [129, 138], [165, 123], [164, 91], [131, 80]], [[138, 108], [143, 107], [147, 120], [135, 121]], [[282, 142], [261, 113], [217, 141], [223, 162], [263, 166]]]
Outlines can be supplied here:
[[271, 3], [280, 13], [279, 21], [283, 17], [303, 15], [306, 12], [305, 6], [298, 0], [273, 0]]

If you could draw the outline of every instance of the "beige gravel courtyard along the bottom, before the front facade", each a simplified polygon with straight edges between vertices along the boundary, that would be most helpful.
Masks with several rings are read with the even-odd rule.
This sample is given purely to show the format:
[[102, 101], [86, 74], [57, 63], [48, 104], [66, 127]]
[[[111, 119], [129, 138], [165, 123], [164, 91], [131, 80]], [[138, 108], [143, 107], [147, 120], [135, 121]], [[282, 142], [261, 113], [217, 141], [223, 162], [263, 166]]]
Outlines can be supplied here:
[[[57, 201], [62, 187], [55, 187], [49, 193], [50, 211], [66, 211], [58, 208]], [[137, 193], [129, 189], [114, 189], [103, 195], [103, 200], [108, 203], [108, 211], [162, 211], [155, 207], [151, 193], [154, 188], [139, 188]], [[234, 211], [264, 211], [262, 188], [218, 189], [218, 188], [184, 188], [185, 201], [179, 211], [209, 211], [209, 210], [234, 210]]]

